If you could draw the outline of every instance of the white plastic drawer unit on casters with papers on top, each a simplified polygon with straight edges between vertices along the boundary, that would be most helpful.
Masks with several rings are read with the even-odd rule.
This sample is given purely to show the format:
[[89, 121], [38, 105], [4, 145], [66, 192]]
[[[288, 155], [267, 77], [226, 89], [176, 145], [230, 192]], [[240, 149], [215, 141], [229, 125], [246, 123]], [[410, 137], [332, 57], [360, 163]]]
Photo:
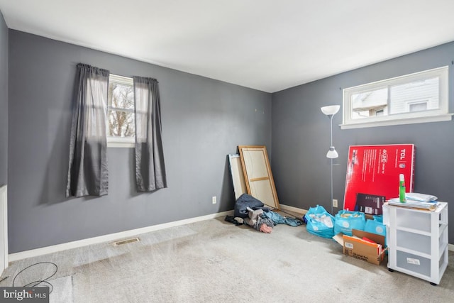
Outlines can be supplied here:
[[438, 285], [448, 266], [448, 203], [435, 211], [384, 205], [388, 269]]

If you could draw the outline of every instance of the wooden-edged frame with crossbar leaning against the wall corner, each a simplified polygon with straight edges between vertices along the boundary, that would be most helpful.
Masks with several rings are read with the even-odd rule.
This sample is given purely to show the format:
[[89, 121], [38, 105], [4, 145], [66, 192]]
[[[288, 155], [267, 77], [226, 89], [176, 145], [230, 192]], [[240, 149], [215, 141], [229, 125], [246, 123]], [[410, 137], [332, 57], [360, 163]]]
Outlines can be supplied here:
[[267, 148], [263, 145], [239, 145], [238, 150], [248, 194], [266, 206], [279, 209]]

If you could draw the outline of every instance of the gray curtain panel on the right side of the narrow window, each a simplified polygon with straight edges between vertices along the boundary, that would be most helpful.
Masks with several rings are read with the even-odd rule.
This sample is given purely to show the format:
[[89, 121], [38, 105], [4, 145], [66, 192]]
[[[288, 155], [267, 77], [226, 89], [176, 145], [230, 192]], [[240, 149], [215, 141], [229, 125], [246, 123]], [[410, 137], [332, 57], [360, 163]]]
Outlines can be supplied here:
[[135, 182], [138, 192], [167, 187], [157, 80], [133, 77], [135, 99]]

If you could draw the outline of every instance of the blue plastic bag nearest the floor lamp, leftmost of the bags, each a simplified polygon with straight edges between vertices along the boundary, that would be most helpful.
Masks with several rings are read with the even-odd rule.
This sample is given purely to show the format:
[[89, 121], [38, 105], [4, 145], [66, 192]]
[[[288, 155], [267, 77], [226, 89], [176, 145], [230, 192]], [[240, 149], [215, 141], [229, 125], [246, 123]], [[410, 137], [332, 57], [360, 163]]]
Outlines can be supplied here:
[[309, 233], [323, 238], [333, 238], [334, 217], [323, 206], [310, 207], [304, 215], [304, 221]]

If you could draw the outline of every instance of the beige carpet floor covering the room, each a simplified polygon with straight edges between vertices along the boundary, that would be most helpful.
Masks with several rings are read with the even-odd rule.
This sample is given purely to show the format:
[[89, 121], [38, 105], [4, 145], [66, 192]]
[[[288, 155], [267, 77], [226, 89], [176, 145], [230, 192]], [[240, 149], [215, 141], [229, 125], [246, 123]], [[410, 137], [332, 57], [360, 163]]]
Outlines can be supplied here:
[[[260, 233], [223, 218], [138, 236], [140, 242], [101, 243], [12, 263], [0, 286], [29, 265], [58, 266], [50, 302], [453, 302], [453, 252], [437, 286], [401, 272], [387, 260], [350, 258], [306, 226]], [[43, 263], [22, 272], [16, 286], [52, 275]]]

